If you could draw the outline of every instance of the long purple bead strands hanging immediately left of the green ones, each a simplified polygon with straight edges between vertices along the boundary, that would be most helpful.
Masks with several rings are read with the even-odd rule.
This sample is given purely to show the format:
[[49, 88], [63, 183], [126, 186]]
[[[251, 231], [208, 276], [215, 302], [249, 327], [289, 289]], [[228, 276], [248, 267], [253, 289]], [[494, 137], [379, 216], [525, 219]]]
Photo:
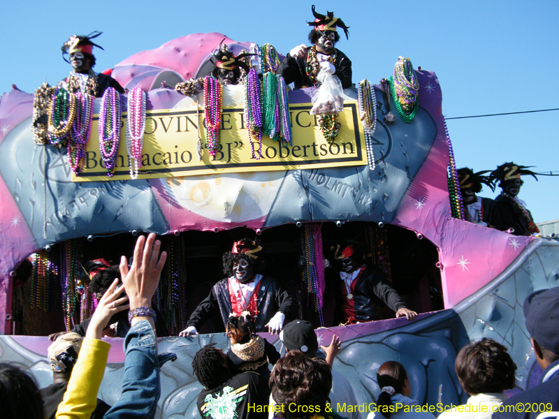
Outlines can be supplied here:
[[[262, 157], [262, 108], [260, 96], [260, 79], [256, 70], [251, 68], [245, 82], [245, 119], [247, 121], [252, 158], [256, 160]], [[254, 152], [253, 140], [259, 141], [258, 154]]]

